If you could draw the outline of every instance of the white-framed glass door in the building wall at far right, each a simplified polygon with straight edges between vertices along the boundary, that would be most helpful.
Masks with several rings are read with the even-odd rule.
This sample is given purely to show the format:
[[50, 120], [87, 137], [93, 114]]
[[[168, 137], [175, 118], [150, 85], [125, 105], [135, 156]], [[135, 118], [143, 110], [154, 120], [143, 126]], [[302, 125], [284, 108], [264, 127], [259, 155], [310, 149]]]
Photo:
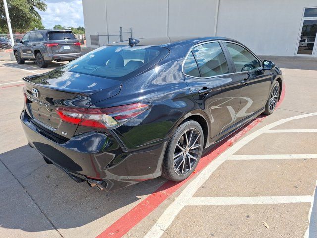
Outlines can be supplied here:
[[298, 36], [295, 55], [317, 56], [317, 8], [306, 8], [304, 10], [301, 29]]

